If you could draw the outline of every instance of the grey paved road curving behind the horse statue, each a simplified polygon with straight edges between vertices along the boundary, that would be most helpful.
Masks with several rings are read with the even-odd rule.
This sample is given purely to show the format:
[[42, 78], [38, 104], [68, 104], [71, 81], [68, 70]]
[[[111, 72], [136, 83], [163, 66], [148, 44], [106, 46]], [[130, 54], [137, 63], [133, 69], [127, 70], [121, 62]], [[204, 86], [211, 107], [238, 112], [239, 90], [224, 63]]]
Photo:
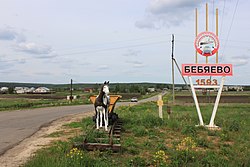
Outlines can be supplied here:
[[[138, 104], [156, 99], [157, 96], [154, 96], [139, 101]], [[130, 104], [130, 102], [117, 103], [116, 107]], [[80, 114], [87, 111], [94, 111], [92, 104], [0, 112], [0, 155], [52, 121], [70, 114]]]

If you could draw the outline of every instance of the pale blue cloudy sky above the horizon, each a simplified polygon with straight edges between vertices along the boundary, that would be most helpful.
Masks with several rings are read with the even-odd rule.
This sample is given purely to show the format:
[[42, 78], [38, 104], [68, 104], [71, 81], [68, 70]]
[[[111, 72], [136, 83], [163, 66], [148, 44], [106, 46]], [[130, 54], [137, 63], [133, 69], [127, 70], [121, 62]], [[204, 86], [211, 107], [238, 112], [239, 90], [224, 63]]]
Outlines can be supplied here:
[[[0, 0], [0, 82], [171, 83], [172, 34], [178, 65], [195, 63], [195, 8], [203, 32], [206, 3], [211, 32], [219, 9], [219, 63], [233, 64], [226, 84], [249, 85], [243, 0]], [[175, 83], [184, 83], [176, 67]]]

